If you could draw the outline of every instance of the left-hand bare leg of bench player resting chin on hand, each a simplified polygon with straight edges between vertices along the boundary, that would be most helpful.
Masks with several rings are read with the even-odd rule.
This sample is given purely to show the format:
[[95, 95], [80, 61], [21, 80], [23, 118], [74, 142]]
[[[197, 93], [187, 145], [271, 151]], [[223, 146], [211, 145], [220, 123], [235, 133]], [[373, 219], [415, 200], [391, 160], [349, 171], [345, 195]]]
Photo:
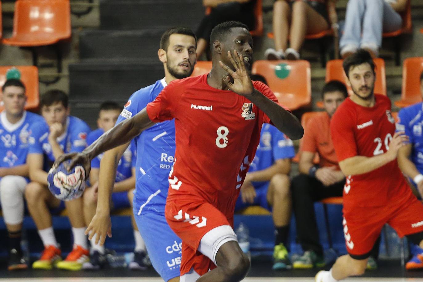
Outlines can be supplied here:
[[38, 230], [52, 226], [52, 216], [48, 205], [58, 207], [60, 200], [56, 199], [46, 186], [31, 182], [25, 189], [25, 199], [28, 210]]

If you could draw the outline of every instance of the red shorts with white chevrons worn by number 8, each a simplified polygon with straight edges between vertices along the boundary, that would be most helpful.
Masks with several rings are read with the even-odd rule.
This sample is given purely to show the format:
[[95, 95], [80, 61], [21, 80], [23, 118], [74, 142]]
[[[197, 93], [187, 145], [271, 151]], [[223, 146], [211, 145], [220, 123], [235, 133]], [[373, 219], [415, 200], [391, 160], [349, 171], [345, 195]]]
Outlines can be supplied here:
[[165, 216], [170, 228], [182, 239], [181, 276], [191, 268], [200, 275], [216, 268], [209, 257], [197, 249], [201, 238], [213, 228], [221, 225], [233, 228], [233, 212], [227, 218], [214, 205], [203, 200], [168, 199]]

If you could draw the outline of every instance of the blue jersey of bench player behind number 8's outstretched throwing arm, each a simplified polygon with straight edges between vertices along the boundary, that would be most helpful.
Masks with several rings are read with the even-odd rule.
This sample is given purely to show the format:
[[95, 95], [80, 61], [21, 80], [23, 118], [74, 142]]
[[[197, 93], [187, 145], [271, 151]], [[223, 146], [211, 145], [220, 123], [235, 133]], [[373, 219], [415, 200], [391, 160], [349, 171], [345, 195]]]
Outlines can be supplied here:
[[[102, 134], [104, 130], [99, 128], [92, 131], [87, 136], [87, 145], [91, 145], [94, 141], [96, 141]], [[100, 168], [100, 161], [102, 160], [103, 153], [96, 156], [91, 161], [92, 168]], [[119, 160], [118, 169], [116, 171], [116, 179], [115, 182], [119, 182], [125, 180], [126, 178], [130, 178], [132, 176], [132, 167], [135, 167], [135, 145], [133, 142], [129, 144], [128, 148], [125, 150], [124, 154], [122, 155], [121, 159]]]

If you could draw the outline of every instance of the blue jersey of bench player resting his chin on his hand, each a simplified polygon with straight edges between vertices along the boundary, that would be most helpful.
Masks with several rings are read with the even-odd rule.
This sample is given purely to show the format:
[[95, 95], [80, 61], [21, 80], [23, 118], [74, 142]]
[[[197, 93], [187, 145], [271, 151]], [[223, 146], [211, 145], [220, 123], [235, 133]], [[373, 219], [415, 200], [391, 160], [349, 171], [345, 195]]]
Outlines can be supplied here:
[[[48, 171], [55, 161], [48, 140], [49, 126], [43, 120], [41, 123], [34, 123], [31, 131], [28, 153], [42, 154], [44, 156], [44, 170]], [[87, 134], [90, 131], [83, 120], [69, 116], [66, 120], [66, 131], [57, 138], [58, 144], [64, 153], [82, 152], [87, 147]]]

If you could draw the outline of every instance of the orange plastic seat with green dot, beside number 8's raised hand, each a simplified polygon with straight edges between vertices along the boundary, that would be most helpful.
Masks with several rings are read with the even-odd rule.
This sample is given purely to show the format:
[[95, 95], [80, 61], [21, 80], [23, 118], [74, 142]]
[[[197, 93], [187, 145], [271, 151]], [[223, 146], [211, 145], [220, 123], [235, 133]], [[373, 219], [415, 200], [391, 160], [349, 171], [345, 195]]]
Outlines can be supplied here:
[[253, 74], [263, 76], [280, 104], [290, 110], [311, 104], [310, 63], [306, 60], [258, 60], [253, 63]]

